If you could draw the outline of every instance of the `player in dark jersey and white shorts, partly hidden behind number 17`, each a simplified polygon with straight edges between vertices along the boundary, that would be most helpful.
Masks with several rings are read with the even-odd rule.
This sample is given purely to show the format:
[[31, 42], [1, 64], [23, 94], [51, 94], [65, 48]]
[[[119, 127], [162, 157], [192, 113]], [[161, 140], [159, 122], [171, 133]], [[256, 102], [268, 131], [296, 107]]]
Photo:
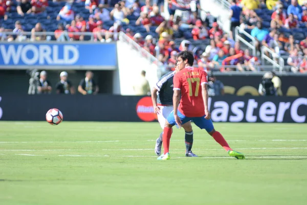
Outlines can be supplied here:
[[[171, 71], [163, 75], [151, 90], [153, 110], [158, 115], [158, 121], [162, 129], [164, 129], [167, 116], [173, 111], [173, 76], [176, 72], [177, 71]], [[193, 130], [191, 122], [186, 122], [183, 128], [185, 129], [185, 156], [197, 157], [197, 155], [191, 151], [193, 146]], [[161, 155], [162, 134], [163, 132], [161, 132], [156, 140], [155, 152], [158, 156]]]

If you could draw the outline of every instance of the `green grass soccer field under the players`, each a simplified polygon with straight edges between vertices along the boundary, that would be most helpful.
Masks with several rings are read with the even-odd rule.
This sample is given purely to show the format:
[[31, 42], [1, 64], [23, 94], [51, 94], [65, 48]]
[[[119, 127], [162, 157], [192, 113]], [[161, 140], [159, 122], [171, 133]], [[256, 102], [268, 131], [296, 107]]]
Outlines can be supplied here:
[[215, 123], [246, 160], [196, 126], [153, 151], [158, 122], [0, 121], [0, 204], [306, 204], [305, 124]]

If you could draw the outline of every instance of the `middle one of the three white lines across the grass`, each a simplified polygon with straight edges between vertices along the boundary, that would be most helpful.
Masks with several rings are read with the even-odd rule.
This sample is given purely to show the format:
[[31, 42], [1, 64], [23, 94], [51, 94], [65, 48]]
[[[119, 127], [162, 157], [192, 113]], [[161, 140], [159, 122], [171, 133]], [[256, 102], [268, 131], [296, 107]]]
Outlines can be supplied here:
[[[236, 150], [305, 150], [307, 148], [237, 148]], [[92, 149], [91, 149], [92, 150]], [[100, 151], [142, 151], [142, 150], [154, 150], [154, 149], [95, 149]], [[182, 149], [172, 149], [182, 150]], [[193, 149], [193, 150], [224, 150], [224, 149]], [[0, 150], [0, 151], [88, 151], [88, 150]]]

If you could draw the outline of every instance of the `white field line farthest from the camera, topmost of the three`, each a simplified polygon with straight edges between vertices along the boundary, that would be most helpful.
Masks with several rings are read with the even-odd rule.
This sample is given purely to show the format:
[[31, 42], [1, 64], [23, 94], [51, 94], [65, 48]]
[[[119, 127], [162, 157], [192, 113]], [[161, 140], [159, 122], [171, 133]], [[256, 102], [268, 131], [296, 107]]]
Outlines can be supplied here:
[[[195, 141], [212, 141], [212, 139], [195, 139]], [[141, 141], [141, 140], [106, 140], [106, 141], [0, 141], [0, 144], [27, 144], [27, 143], [104, 143], [104, 142], [126, 142], [126, 141]], [[145, 141], [156, 141], [156, 139], [148, 139]], [[183, 141], [183, 139], [172, 139], [171, 141]], [[307, 141], [307, 139], [259, 139], [259, 140], [241, 140], [229, 139], [227, 141]]]

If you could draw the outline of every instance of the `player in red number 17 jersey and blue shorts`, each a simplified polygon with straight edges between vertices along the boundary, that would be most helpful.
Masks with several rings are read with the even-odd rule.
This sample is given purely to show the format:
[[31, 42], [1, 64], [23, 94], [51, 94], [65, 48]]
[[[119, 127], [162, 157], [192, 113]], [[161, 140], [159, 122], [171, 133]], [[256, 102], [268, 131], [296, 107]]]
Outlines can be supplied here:
[[[167, 117], [163, 130], [164, 154], [158, 159], [167, 160], [169, 156], [169, 142], [174, 125], [184, 125], [193, 120], [194, 124], [206, 131], [229, 154], [237, 159], [245, 159], [242, 153], [232, 150], [220, 132], [215, 131], [208, 109], [207, 74], [201, 68], [193, 68], [194, 56], [190, 51], [182, 51], [177, 57], [177, 67], [180, 70], [173, 78], [173, 108]], [[181, 98], [180, 98], [181, 94]], [[179, 104], [180, 102], [180, 104]]]

